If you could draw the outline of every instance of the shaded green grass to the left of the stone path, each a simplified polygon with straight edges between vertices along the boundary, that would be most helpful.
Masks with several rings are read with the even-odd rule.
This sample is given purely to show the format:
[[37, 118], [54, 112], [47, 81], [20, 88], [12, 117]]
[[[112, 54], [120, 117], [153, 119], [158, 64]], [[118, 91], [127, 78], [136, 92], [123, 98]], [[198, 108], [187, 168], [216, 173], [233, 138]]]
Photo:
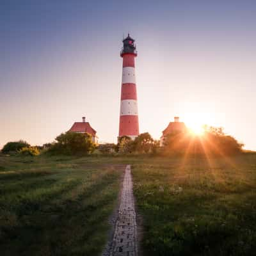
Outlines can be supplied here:
[[106, 162], [0, 157], [0, 254], [100, 255], [122, 173]]

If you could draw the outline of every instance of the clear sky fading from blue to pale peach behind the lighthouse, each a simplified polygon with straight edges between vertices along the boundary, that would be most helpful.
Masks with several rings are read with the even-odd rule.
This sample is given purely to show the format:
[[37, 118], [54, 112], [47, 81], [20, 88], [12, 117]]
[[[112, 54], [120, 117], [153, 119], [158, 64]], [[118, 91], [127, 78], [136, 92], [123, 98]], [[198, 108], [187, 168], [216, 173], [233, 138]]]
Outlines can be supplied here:
[[0, 1], [0, 148], [83, 115], [116, 142], [123, 34], [136, 40], [140, 132], [224, 127], [256, 150], [256, 1]]

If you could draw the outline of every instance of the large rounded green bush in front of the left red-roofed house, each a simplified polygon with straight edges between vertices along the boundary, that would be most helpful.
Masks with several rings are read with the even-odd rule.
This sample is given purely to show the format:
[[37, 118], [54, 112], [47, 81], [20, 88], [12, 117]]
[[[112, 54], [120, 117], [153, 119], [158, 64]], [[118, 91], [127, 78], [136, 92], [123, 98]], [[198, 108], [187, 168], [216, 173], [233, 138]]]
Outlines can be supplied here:
[[55, 139], [57, 142], [49, 148], [50, 152], [60, 154], [90, 154], [95, 150], [91, 134], [66, 132]]

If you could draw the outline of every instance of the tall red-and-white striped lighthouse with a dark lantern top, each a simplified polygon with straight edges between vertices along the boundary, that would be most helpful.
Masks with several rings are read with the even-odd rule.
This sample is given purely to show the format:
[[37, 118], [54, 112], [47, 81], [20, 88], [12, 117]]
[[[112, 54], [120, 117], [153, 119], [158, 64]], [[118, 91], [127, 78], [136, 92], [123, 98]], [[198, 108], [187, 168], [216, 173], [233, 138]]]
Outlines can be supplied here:
[[122, 89], [119, 136], [129, 136], [134, 140], [139, 135], [138, 105], [135, 77], [135, 57], [137, 56], [134, 39], [128, 34], [123, 40], [120, 56], [123, 58]]

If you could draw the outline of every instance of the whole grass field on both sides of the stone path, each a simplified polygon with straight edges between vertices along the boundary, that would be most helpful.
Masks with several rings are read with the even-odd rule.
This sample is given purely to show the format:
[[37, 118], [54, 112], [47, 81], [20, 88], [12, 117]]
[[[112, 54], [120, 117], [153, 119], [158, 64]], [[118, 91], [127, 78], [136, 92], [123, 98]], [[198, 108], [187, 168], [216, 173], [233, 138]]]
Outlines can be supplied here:
[[0, 156], [0, 255], [100, 255], [124, 164], [144, 255], [255, 255], [255, 154]]

